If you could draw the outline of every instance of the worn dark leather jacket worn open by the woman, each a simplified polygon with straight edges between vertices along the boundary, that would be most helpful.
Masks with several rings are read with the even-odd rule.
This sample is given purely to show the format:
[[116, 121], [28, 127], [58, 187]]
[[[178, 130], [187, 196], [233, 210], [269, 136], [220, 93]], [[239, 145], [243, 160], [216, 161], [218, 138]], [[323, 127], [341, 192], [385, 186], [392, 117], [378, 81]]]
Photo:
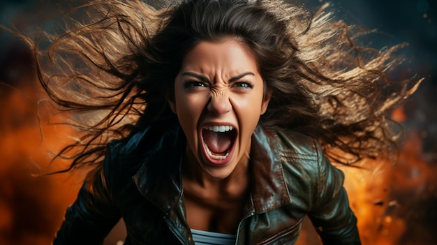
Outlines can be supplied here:
[[[125, 244], [193, 244], [185, 219], [179, 126], [151, 128], [108, 146], [105, 164], [68, 207], [54, 244], [102, 244], [124, 218]], [[360, 244], [343, 173], [299, 133], [260, 126], [252, 138], [253, 185], [237, 244], [294, 244], [308, 215], [324, 244]]]

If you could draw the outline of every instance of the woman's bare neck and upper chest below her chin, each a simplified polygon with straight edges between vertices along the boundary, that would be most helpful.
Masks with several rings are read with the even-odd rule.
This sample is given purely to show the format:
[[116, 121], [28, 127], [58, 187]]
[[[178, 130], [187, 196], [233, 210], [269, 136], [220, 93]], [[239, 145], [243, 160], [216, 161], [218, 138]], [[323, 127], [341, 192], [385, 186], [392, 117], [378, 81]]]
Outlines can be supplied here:
[[182, 166], [188, 225], [197, 230], [235, 234], [249, 196], [249, 171], [248, 150], [228, 177], [214, 179], [188, 148]]

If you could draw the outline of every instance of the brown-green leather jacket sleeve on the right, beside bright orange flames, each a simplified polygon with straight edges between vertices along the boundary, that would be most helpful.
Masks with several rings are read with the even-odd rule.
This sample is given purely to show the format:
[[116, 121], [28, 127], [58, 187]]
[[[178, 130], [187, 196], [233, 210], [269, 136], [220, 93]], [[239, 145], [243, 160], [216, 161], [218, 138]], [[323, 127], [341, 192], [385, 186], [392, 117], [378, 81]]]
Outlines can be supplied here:
[[[317, 144], [318, 145], [318, 144]], [[343, 187], [344, 175], [318, 149], [317, 196], [309, 213], [323, 244], [361, 244], [357, 218], [350, 209]]]

